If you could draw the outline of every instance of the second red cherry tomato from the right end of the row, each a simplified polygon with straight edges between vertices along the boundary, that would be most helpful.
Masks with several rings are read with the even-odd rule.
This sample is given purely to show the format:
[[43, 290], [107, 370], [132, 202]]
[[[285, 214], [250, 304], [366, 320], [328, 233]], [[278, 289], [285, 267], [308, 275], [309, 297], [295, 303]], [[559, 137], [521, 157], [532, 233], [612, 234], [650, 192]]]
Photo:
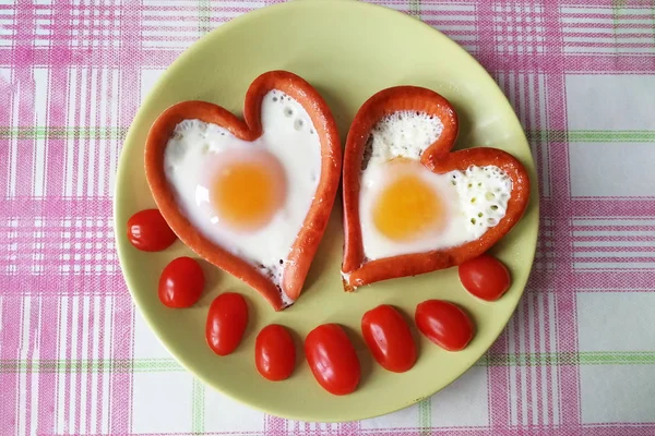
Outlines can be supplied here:
[[473, 339], [473, 322], [458, 306], [448, 301], [428, 300], [416, 306], [418, 330], [448, 351], [460, 351]]

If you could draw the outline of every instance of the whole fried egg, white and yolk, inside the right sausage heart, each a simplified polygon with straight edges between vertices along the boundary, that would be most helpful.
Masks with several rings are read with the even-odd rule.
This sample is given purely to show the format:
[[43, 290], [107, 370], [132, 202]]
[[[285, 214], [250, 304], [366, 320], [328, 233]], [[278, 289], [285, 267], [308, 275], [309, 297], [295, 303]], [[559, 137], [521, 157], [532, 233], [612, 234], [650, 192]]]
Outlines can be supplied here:
[[436, 174], [420, 164], [442, 131], [438, 118], [414, 111], [394, 112], [371, 130], [359, 191], [368, 259], [460, 246], [504, 217], [512, 181], [500, 168]]

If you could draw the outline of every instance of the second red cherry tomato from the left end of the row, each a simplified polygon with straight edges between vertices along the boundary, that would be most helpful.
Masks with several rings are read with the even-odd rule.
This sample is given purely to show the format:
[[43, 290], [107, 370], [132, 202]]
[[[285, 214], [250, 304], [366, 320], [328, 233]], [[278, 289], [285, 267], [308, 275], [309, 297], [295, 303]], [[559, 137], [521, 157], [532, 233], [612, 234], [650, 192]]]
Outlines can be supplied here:
[[168, 307], [190, 307], [200, 299], [204, 275], [191, 257], [170, 262], [159, 277], [159, 300]]

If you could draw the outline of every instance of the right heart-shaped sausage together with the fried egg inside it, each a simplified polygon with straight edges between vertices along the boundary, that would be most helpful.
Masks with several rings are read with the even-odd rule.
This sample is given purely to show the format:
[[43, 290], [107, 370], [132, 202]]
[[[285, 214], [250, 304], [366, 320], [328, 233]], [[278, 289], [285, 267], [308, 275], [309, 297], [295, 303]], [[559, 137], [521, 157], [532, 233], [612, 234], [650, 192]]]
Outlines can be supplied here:
[[507, 152], [451, 152], [454, 108], [414, 86], [383, 89], [359, 109], [344, 152], [346, 290], [479, 256], [523, 215], [529, 180]]

